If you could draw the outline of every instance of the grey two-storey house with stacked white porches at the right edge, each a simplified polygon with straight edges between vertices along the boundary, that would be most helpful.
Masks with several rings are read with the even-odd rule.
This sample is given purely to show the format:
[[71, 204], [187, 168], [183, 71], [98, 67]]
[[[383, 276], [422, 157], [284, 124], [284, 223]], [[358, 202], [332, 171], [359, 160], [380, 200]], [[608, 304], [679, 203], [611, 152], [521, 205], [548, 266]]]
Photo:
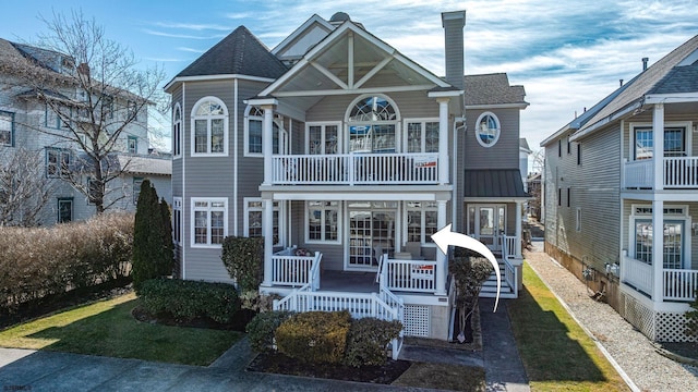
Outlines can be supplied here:
[[541, 143], [546, 252], [654, 341], [689, 340], [698, 289], [697, 60], [698, 36], [650, 68], [643, 59]]

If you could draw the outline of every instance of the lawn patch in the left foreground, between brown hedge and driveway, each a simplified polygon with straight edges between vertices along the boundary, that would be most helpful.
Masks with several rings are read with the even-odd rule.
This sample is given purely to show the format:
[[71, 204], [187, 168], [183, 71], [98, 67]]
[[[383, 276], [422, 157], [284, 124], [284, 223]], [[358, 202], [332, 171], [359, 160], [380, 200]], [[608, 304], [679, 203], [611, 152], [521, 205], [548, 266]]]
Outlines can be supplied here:
[[0, 346], [207, 366], [242, 334], [136, 321], [134, 294], [101, 301], [0, 332]]

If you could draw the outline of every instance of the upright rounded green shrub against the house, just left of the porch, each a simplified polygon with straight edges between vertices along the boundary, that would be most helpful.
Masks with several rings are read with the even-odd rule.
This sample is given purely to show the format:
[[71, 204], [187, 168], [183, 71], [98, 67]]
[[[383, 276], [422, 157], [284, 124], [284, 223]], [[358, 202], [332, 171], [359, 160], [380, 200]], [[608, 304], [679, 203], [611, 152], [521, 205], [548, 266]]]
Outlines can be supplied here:
[[260, 287], [264, 266], [264, 238], [227, 236], [222, 241], [220, 258], [240, 293]]

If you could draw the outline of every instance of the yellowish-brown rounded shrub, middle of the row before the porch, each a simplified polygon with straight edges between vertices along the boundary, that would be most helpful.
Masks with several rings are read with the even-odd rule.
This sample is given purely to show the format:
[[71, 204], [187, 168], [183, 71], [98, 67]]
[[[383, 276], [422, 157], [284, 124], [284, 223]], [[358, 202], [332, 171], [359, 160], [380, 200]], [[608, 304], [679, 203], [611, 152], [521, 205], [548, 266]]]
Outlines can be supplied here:
[[347, 310], [296, 314], [276, 329], [276, 345], [280, 353], [300, 360], [340, 363], [350, 324]]

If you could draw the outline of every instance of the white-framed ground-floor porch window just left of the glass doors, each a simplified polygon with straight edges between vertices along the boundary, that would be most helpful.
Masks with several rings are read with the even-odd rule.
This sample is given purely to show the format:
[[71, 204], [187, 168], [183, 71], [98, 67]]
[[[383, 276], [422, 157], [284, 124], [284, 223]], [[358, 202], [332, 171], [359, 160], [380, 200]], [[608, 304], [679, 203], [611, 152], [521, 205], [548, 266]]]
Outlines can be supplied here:
[[339, 244], [339, 201], [305, 201], [305, 242]]

